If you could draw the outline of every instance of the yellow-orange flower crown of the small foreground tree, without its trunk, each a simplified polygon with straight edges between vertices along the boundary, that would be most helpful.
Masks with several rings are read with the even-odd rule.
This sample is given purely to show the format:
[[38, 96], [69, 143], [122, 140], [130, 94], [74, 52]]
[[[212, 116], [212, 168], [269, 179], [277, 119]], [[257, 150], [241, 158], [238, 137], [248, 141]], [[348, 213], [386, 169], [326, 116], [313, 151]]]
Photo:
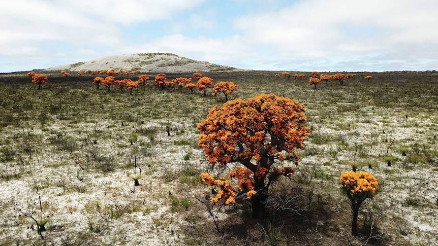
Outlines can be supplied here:
[[339, 181], [350, 199], [372, 197], [378, 186], [377, 179], [368, 172], [342, 172]]

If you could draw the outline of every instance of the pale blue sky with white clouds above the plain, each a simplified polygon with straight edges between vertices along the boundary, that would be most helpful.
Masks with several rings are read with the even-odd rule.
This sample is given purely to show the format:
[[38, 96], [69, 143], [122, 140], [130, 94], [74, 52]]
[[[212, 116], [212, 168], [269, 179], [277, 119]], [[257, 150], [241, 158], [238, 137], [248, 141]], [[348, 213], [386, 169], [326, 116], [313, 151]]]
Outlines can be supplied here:
[[438, 70], [435, 0], [0, 3], [0, 73], [153, 52], [268, 71]]

